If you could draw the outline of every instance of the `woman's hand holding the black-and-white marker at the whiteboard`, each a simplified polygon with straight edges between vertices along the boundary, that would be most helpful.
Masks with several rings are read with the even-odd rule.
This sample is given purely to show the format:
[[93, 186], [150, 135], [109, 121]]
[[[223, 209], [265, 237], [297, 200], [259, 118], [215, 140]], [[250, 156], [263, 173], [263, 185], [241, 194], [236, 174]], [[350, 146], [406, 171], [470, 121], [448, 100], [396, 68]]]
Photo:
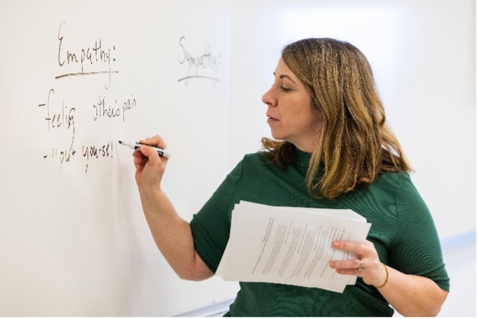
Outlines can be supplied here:
[[133, 153], [136, 184], [140, 190], [159, 189], [168, 158], [160, 157], [152, 147], [147, 145], [166, 148], [166, 143], [159, 135], [139, 140], [139, 143], [145, 145], [141, 145], [140, 149]]

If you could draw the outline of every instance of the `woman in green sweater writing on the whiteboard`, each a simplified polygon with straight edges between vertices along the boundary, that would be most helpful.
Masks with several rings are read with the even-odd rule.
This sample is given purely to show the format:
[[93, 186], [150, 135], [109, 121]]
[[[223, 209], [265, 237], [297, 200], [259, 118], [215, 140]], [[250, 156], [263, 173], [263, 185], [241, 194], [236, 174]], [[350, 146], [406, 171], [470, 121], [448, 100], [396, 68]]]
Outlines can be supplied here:
[[[274, 140], [246, 155], [191, 224], [161, 190], [167, 160], [134, 152], [136, 183], [157, 246], [179, 277], [211, 277], [240, 200], [273, 206], [348, 208], [371, 223], [363, 244], [334, 241], [358, 258], [331, 261], [356, 275], [344, 293], [240, 282], [227, 316], [436, 316], [449, 290], [430, 212], [385, 123], [369, 63], [355, 46], [304, 39], [286, 46], [263, 95]], [[160, 136], [141, 143], [166, 147]], [[393, 307], [393, 309], [391, 307]]]

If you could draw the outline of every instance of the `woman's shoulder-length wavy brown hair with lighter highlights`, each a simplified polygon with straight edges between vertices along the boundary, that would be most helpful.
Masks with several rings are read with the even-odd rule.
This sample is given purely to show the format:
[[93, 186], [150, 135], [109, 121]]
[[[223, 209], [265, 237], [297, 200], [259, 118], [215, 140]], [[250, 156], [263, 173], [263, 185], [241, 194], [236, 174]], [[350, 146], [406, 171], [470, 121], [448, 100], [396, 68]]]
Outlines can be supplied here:
[[[385, 111], [364, 54], [348, 42], [303, 39], [283, 48], [282, 59], [306, 85], [323, 122], [310, 158], [306, 187], [333, 199], [372, 183], [382, 172], [411, 172]], [[261, 152], [280, 167], [294, 161], [294, 146], [263, 138]], [[319, 176], [319, 167], [324, 174]]]

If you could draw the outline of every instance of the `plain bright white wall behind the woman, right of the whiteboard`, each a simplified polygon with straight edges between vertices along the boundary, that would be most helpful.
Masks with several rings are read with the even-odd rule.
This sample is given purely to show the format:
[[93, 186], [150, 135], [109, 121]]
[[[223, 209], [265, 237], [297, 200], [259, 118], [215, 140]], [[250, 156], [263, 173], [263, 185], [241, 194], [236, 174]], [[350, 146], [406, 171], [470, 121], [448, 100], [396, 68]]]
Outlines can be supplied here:
[[[475, 245], [475, 13], [474, 0], [232, 1], [231, 167], [270, 136], [260, 98], [281, 48], [304, 37], [346, 40], [369, 58], [443, 243]], [[452, 277], [459, 268], [447, 259], [450, 251]], [[475, 265], [471, 252], [463, 262]], [[460, 280], [452, 277], [452, 296], [476, 297], [476, 276]], [[474, 304], [455, 306], [475, 316]]]

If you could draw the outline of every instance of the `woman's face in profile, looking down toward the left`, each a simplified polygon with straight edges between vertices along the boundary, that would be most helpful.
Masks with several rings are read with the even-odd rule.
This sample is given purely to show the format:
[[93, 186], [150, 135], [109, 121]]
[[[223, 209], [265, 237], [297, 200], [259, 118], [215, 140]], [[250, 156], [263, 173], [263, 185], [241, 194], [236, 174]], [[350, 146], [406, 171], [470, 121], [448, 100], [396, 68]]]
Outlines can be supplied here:
[[313, 152], [321, 120], [317, 111], [312, 111], [310, 93], [282, 59], [274, 76], [272, 88], [263, 95], [272, 137], [286, 140], [304, 152]]

